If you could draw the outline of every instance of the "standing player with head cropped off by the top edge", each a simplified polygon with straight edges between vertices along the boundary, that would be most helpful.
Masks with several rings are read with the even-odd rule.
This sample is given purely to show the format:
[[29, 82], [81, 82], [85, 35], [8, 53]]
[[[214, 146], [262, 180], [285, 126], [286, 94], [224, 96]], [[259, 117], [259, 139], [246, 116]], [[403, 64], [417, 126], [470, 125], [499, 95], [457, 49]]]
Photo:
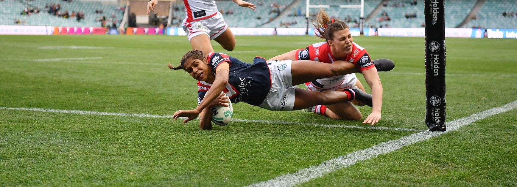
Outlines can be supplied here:
[[[255, 10], [255, 5], [242, 1], [232, 0], [241, 7], [248, 7]], [[201, 50], [204, 54], [214, 53], [210, 40], [215, 40], [226, 50], [235, 48], [235, 36], [224, 22], [221, 12], [217, 10], [214, 0], [183, 0], [187, 18], [181, 26], [187, 32], [192, 49]], [[155, 11], [158, 0], [151, 0], [147, 3], [147, 14]]]

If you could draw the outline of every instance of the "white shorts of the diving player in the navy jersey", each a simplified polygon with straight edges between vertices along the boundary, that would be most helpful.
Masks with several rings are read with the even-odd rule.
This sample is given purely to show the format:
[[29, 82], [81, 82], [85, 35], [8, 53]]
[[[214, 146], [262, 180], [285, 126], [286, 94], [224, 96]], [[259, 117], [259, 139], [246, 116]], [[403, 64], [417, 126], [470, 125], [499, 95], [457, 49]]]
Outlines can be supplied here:
[[272, 111], [293, 110], [295, 88], [291, 62], [292, 60], [271, 60], [267, 63], [271, 74], [271, 89], [259, 107]]

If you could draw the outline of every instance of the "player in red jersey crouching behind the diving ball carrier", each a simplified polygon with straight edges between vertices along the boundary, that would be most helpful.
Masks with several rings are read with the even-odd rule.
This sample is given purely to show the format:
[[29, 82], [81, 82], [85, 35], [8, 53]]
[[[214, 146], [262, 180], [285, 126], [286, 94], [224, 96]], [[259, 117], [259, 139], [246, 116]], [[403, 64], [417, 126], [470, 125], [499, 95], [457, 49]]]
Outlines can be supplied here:
[[[312, 44], [305, 49], [292, 50], [269, 60], [314, 60], [325, 63], [335, 63], [337, 60], [343, 60], [354, 63], [363, 74], [370, 88], [372, 88], [373, 103], [364, 103], [373, 108], [372, 113], [368, 115], [363, 123], [374, 125], [381, 119], [383, 100], [383, 87], [377, 71], [393, 69], [393, 61], [388, 59], [372, 61], [366, 49], [353, 42], [348, 25], [341, 20], [329, 19], [327, 12], [323, 9], [317, 13], [316, 20], [312, 21], [316, 28], [316, 35], [325, 39], [325, 42]], [[364, 91], [364, 87], [355, 74], [322, 78], [306, 82], [305, 84], [308, 90], [318, 92], [352, 87], [358, 87]], [[355, 104], [361, 105], [360, 103]], [[362, 117], [361, 112], [351, 102], [317, 105], [311, 109], [317, 114], [339, 120], [360, 120]]]

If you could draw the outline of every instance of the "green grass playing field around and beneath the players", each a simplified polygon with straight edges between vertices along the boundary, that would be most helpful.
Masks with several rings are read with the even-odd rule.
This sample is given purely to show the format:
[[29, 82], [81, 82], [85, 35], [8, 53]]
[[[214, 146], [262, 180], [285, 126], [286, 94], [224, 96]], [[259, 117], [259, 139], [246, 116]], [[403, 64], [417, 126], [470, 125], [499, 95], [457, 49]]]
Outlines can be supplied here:
[[[236, 39], [233, 52], [212, 45], [250, 62], [320, 42]], [[0, 186], [245, 186], [419, 132], [396, 128], [426, 130], [424, 39], [354, 42], [396, 63], [379, 73], [383, 118], [375, 127], [386, 129], [245, 103], [233, 105], [241, 121], [213, 130], [200, 130], [197, 120], [48, 112], [192, 109], [196, 81], [166, 66], [178, 65], [190, 44], [173, 36], [0, 36]], [[447, 39], [447, 121], [517, 100], [515, 48], [511, 39]], [[371, 112], [359, 110], [363, 118]], [[501, 112], [298, 185], [515, 186], [516, 116]]]

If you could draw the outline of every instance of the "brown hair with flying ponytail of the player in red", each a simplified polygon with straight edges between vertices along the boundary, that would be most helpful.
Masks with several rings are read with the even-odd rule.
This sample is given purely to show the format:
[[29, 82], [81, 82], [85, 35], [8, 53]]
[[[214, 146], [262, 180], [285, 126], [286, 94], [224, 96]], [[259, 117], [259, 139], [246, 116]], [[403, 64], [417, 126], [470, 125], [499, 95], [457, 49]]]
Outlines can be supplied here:
[[334, 39], [334, 31], [349, 28], [345, 22], [339, 19], [330, 19], [327, 11], [323, 8], [320, 8], [320, 11], [316, 14], [316, 19], [311, 20], [311, 22], [316, 29], [316, 36], [325, 39], [327, 43], [329, 40]]

